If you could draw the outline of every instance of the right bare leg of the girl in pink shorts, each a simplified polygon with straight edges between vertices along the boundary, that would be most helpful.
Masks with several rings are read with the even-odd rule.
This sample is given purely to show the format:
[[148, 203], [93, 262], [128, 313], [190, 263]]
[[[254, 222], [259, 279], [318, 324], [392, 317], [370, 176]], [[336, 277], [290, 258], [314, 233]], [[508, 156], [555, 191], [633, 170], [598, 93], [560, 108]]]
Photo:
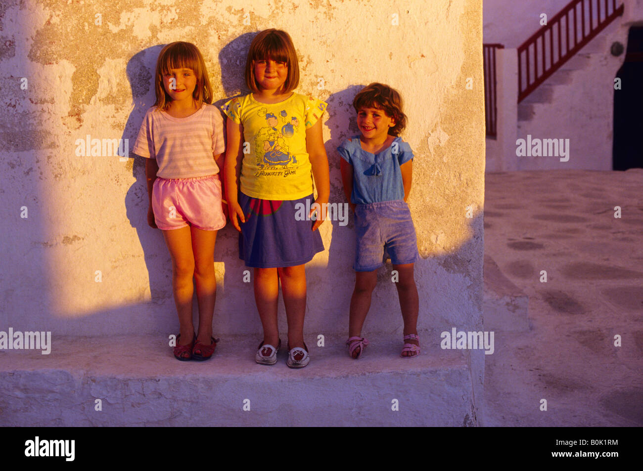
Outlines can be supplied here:
[[212, 317], [217, 299], [217, 279], [214, 272], [214, 243], [217, 231], [203, 231], [192, 227], [192, 250], [194, 251], [194, 280], [199, 304], [199, 330], [197, 341], [212, 343]]

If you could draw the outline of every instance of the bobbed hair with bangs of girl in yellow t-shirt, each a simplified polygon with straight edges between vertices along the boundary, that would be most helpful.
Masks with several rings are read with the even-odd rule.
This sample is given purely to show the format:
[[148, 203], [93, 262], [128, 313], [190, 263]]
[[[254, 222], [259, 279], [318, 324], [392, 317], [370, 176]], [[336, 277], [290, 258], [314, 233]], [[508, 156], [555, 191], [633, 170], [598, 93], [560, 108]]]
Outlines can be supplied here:
[[288, 33], [271, 28], [258, 33], [252, 40], [246, 59], [246, 85], [253, 91], [259, 92], [255, 80], [255, 62], [272, 59], [275, 62], [285, 62], [288, 76], [284, 82], [284, 93], [294, 90], [299, 85], [299, 60], [294, 50], [293, 40]]

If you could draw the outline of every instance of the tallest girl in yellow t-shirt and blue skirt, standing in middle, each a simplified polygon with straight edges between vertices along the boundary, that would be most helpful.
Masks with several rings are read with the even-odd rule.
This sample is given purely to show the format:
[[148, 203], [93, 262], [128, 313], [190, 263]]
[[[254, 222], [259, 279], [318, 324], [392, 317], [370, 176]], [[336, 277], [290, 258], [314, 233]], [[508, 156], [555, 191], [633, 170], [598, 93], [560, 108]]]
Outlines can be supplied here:
[[[326, 103], [293, 93], [298, 83], [298, 59], [288, 33], [261, 31], [246, 61], [246, 84], [252, 93], [222, 106], [228, 116], [224, 164], [228, 209], [240, 231], [239, 258], [255, 269], [255, 301], [264, 328], [255, 360], [276, 363], [281, 281], [290, 368], [303, 368], [310, 361], [303, 341], [304, 264], [324, 249], [317, 229], [325, 218], [330, 191], [321, 134]], [[305, 214], [302, 208], [311, 209]]]

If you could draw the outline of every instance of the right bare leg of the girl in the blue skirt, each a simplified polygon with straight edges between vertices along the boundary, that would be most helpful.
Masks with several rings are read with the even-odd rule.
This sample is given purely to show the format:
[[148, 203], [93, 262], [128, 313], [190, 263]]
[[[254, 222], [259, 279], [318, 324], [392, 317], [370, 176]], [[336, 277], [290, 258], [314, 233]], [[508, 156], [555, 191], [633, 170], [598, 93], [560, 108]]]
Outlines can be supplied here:
[[[303, 318], [306, 314], [306, 271], [304, 265], [277, 269], [282, 283], [290, 348], [303, 348]], [[302, 354], [303, 357], [303, 354]], [[300, 360], [295, 355], [295, 360]]]

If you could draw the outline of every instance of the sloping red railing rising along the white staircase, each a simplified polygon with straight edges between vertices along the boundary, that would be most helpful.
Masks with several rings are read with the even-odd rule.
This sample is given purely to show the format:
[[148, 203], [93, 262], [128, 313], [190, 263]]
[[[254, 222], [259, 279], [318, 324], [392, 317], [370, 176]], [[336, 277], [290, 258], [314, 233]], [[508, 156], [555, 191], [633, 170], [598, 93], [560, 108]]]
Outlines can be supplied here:
[[573, 0], [548, 19], [518, 47], [518, 103], [623, 11], [616, 0]]

